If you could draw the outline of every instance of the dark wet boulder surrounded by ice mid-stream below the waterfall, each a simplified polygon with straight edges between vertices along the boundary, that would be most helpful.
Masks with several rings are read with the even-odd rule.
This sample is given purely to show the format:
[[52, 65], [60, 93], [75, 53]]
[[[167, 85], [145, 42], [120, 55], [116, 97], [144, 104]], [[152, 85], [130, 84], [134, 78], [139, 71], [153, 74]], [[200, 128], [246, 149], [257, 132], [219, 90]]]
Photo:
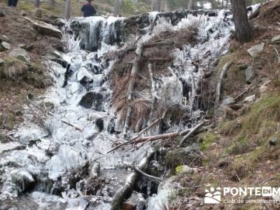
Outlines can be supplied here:
[[102, 101], [103, 95], [99, 92], [87, 92], [82, 99], [80, 99], [80, 106], [85, 107], [86, 109], [94, 109], [96, 111], [102, 111]]

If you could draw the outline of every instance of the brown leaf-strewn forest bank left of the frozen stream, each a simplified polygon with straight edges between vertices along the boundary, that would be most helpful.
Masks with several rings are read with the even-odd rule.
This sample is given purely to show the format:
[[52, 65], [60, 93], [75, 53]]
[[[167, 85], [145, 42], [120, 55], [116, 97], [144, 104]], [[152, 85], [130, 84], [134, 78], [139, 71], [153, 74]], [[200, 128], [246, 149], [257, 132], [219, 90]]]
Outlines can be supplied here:
[[[55, 49], [62, 48], [59, 38], [38, 34], [22, 10], [0, 3], [0, 43], [8, 43], [10, 49], [0, 50], [0, 141], [6, 141], [3, 132], [13, 130], [22, 121], [22, 105], [29, 97], [42, 94], [52, 84], [46, 75], [45, 57]], [[51, 43], [51, 44], [50, 44]], [[25, 49], [23, 49], [25, 48]], [[25, 50], [30, 62], [22, 61], [10, 52]]]

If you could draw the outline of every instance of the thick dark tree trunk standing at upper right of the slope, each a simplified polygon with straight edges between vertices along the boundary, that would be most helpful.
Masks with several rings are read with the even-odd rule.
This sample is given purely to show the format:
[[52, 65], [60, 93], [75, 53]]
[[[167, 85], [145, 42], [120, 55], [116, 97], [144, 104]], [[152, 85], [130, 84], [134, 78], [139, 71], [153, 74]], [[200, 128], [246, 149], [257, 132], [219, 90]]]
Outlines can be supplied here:
[[246, 4], [244, 0], [231, 0], [233, 18], [235, 20], [235, 38], [240, 43], [250, 41], [253, 37], [248, 22]]

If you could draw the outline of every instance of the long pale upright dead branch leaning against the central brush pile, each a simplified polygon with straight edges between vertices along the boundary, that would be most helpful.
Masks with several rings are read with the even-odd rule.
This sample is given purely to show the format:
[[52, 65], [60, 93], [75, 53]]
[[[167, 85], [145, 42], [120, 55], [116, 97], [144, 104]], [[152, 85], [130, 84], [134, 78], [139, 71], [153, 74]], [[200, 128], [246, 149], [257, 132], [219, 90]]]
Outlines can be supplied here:
[[139, 45], [137, 45], [137, 50], [136, 50], [137, 55], [134, 58], [134, 64], [132, 66], [132, 71], [130, 74], [130, 78], [131, 78], [130, 83], [128, 84], [128, 88], [127, 88], [127, 114], [125, 118], [125, 126], [123, 131], [125, 139], [127, 139], [127, 131], [129, 130], [129, 126], [130, 126], [130, 117], [132, 113], [132, 90], [134, 89], [135, 80], [139, 69], [139, 62], [142, 57], [142, 51], [143, 51], [143, 45], [139, 43]]

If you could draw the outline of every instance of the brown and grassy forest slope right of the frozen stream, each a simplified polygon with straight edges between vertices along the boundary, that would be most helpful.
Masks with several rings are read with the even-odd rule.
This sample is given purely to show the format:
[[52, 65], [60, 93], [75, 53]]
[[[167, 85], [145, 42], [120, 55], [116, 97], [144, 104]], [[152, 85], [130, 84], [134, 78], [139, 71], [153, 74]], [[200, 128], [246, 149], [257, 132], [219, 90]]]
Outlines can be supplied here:
[[[228, 106], [210, 111], [216, 127], [199, 134], [197, 141], [203, 152], [202, 166], [193, 175], [178, 175], [186, 190], [174, 200], [175, 209], [184, 209], [194, 200], [203, 200], [210, 187], [262, 187], [279, 188], [280, 183], [280, 1], [262, 6], [250, 18], [254, 29], [253, 40], [240, 45], [231, 41], [230, 51], [221, 57], [213, 80], [225, 64], [233, 62], [223, 79], [223, 99], [235, 98]], [[280, 37], [279, 37], [280, 38]], [[265, 47], [257, 57], [248, 54], [248, 48], [259, 43]], [[248, 67], [253, 78], [246, 83]], [[247, 69], [247, 70], [246, 70]], [[244, 102], [254, 95], [253, 102]], [[220, 113], [220, 114], [216, 114]], [[222, 114], [221, 114], [222, 113]], [[186, 174], [185, 174], [186, 175]], [[189, 188], [193, 183], [193, 188]], [[190, 205], [190, 209], [279, 209], [278, 204], [225, 204], [226, 200], [256, 200], [258, 196], [223, 197], [221, 204]], [[269, 197], [265, 198], [269, 200]], [[277, 197], [279, 199], [279, 197]], [[194, 202], [195, 203], [195, 202]], [[202, 206], [200, 206], [202, 205]]]

